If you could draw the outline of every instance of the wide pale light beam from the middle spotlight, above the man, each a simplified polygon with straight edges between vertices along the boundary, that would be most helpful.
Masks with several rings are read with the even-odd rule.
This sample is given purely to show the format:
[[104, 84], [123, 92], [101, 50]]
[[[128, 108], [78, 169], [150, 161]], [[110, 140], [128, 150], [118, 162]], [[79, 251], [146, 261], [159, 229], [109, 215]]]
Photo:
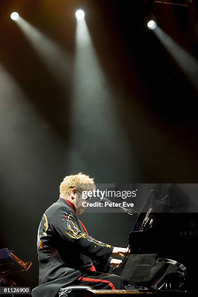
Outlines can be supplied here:
[[95, 169], [105, 177], [107, 158], [107, 178], [113, 174], [115, 160], [125, 171], [132, 151], [115, 110], [117, 94], [100, 66], [85, 19], [77, 21], [73, 77], [70, 171]]

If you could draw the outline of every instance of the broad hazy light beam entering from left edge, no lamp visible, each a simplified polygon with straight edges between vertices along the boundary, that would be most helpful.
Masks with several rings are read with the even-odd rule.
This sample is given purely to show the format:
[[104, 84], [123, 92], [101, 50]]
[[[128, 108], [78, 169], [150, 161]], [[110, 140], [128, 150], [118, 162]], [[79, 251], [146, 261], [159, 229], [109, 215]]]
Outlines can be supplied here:
[[9, 192], [10, 198], [4, 200], [8, 207], [19, 203], [22, 208], [24, 199], [35, 203], [41, 176], [51, 179], [50, 170], [59, 170], [61, 164], [54, 158], [54, 152], [60, 152], [59, 140], [49, 131], [49, 123], [0, 64], [0, 180], [1, 193]]

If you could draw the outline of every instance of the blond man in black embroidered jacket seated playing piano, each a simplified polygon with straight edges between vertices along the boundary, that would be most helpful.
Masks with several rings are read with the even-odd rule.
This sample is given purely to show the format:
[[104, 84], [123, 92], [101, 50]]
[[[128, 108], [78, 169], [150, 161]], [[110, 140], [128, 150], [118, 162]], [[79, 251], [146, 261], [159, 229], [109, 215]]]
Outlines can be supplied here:
[[60, 198], [43, 214], [37, 240], [39, 286], [33, 297], [61, 295], [61, 288], [71, 284], [124, 289], [119, 276], [106, 272], [121, 263], [111, 256], [122, 257], [127, 249], [91, 237], [78, 218], [85, 209], [82, 191], [91, 189], [95, 184], [89, 176], [66, 176], [60, 184]]

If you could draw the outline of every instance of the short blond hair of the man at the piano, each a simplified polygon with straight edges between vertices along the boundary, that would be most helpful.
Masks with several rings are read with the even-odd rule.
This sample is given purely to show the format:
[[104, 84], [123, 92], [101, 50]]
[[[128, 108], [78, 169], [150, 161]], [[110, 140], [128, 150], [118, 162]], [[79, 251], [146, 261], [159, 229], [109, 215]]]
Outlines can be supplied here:
[[64, 197], [71, 193], [72, 188], [77, 188], [79, 192], [91, 191], [96, 188], [94, 179], [79, 172], [66, 176], [60, 184], [60, 196]]

